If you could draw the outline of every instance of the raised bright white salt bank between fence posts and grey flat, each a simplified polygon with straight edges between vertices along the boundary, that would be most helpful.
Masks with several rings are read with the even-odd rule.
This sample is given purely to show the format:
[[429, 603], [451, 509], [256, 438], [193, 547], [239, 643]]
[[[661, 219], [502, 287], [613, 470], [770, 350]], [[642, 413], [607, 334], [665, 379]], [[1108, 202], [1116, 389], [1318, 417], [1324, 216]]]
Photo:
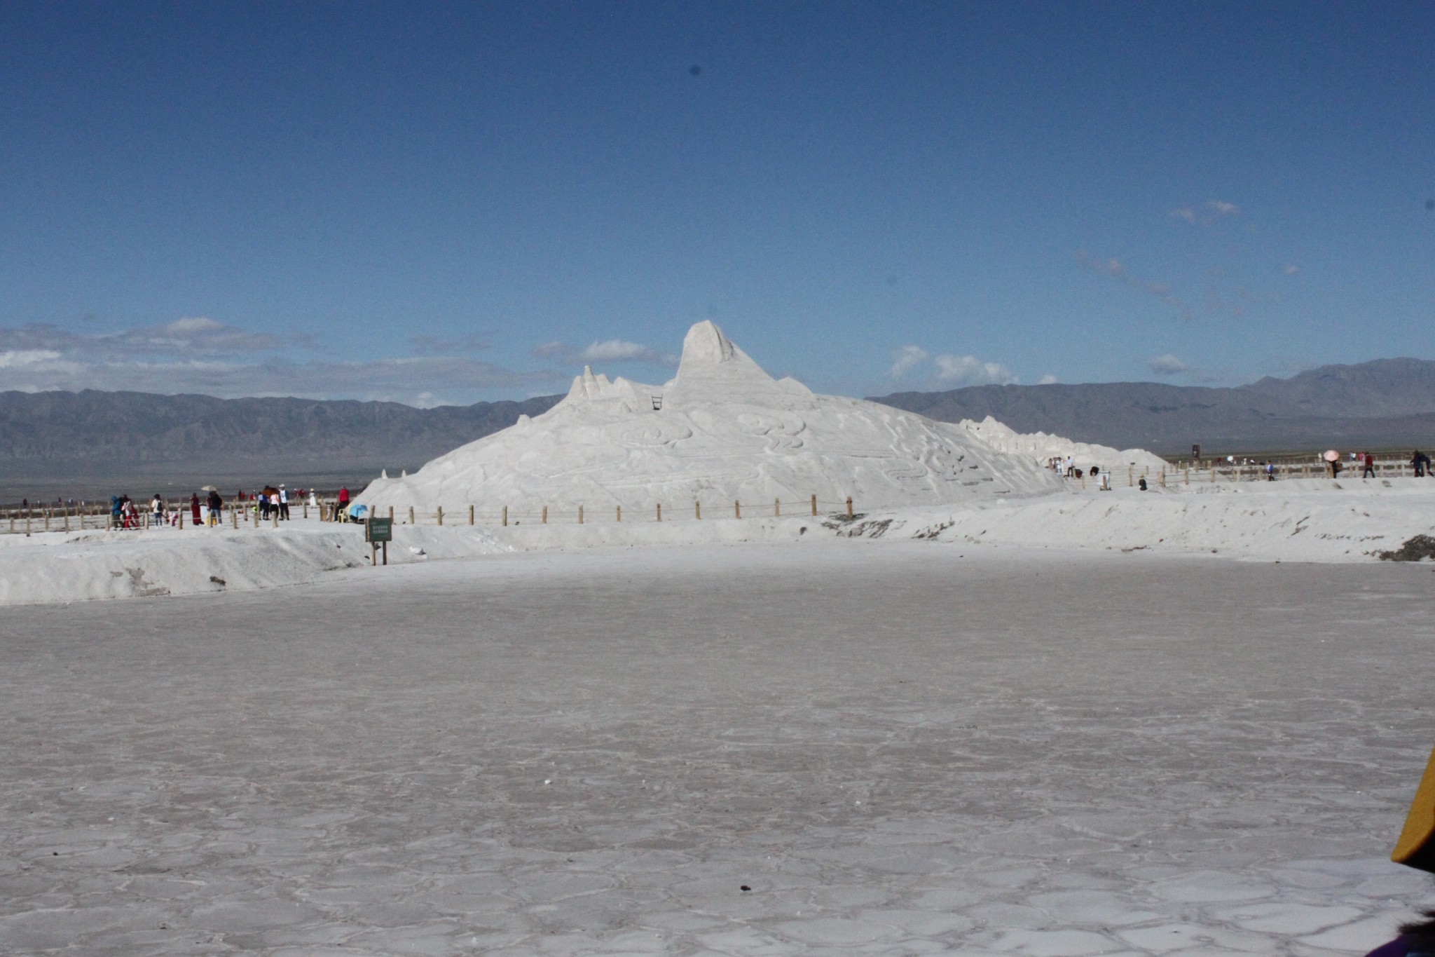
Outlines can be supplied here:
[[[967, 547], [1200, 552], [1263, 561], [1373, 561], [1435, 532], [1435, 481], [1197, 482], [1098, 492], [1068, 484], [1038, 499], [811, 517], [590, 519], [508, 528], [396, 528], [390, 562], [528, 550], [713, 542], [832, 544], [911, 538]], [[637, 518], [637, 519], [636, 519]], [[636, 521], [634, 521], [636, 519]], [[0, 605], [243, 591], [314, 581], [367, 562], [357, 525], [0, 535]]]

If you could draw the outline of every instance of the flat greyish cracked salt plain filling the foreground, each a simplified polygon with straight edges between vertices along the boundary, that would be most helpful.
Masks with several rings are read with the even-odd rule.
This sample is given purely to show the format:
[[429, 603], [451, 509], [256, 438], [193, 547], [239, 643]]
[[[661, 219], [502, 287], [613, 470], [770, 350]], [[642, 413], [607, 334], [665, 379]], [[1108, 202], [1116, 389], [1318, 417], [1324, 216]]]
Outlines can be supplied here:
[[1363, 953], [1435, 898], [1432, 585], [888, 539], [10, 607], [0, 951]]

